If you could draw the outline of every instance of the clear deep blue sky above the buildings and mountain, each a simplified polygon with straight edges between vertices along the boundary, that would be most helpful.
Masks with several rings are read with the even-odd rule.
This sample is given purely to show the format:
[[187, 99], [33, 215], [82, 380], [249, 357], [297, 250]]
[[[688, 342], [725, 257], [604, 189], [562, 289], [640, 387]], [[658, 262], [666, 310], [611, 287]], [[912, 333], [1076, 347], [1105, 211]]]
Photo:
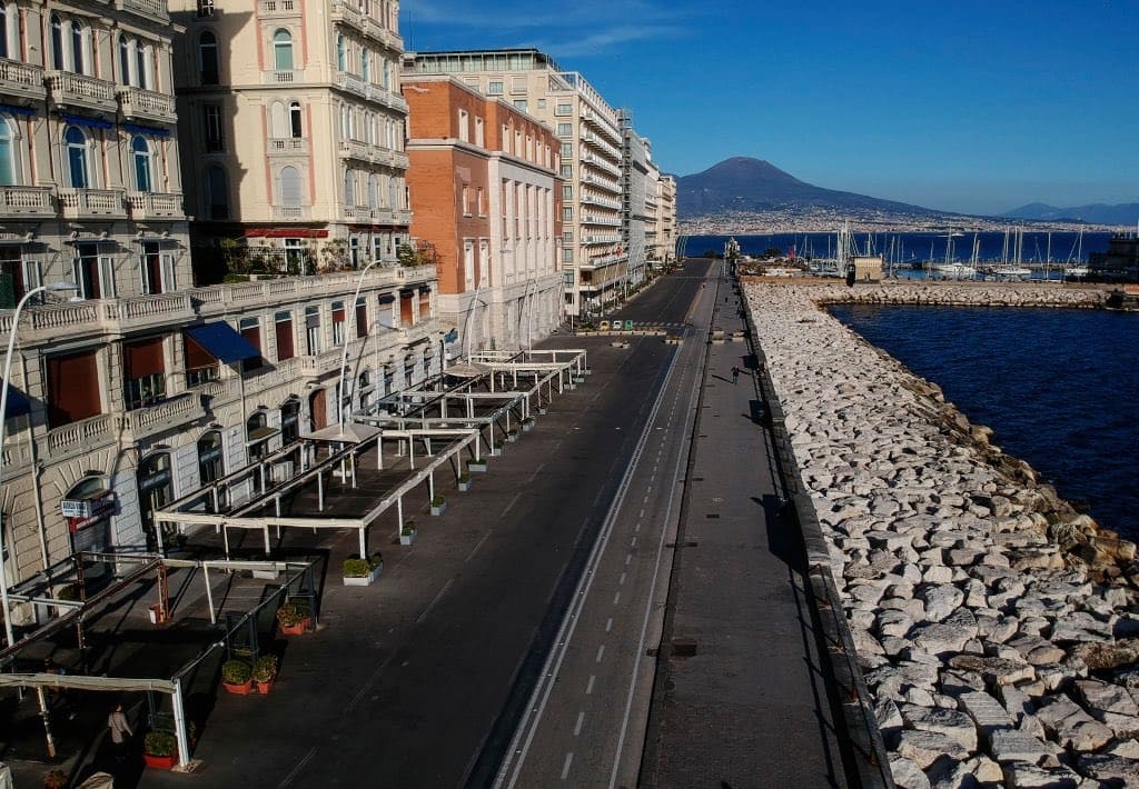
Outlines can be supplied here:
[[536, 47], [665, 172], [731, 156], [966, 213], [1139, 202], [1139, 0], [402, 0], [409, 51]]

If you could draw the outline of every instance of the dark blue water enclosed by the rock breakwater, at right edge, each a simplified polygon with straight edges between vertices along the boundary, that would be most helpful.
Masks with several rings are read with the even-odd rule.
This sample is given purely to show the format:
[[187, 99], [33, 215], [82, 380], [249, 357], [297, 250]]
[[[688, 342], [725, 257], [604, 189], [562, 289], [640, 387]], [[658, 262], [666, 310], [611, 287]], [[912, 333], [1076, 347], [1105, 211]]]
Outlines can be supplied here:
[[831, 312], [1026, 460], [1101, 526], [1139, 539], [1139, 313], [841, 305]]

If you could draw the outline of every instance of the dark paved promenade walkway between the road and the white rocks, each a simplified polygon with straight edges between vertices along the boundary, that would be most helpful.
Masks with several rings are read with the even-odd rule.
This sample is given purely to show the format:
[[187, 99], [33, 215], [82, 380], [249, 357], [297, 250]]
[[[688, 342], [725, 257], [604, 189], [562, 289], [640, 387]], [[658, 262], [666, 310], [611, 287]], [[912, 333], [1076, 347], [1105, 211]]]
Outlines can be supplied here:
[[762, 424], [760, 371], [747, 340], [732, 339], [746, 328], [740, 297], [722, 277], [708, 281], [713, 287], [640, 786], [849, 786], [802, 537], [782, 516]]

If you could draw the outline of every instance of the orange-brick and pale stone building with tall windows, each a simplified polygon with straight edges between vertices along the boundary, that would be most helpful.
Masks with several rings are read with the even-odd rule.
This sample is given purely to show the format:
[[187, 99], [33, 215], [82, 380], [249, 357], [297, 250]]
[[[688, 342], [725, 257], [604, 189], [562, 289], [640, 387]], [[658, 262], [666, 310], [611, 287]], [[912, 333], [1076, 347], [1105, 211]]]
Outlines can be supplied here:
[[459, 352], [527, 347], [562, 320], [562, 182], [552, 131], [448, 75], [407, 75], [412, 236], [435, 256]]

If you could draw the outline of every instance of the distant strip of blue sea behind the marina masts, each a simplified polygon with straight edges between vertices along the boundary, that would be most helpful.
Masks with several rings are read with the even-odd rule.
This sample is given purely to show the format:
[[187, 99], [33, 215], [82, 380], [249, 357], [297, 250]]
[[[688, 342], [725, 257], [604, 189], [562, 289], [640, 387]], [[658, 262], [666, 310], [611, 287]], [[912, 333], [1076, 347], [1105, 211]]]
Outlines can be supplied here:
[[[899, 268], [921, 265], [927, 262], [968, 262], [973, 260], [976, 244], [977, 260], [983, 263], [1014, 262], [1025, 265], [1054, 263], [1085, 263], [1088, 254], [1106, 252], [1106, 232], [1044, 232], [1024, 231], [1019, 240], [1015, 233], [1005, 232], [891, 232], [851, 233], [858, 254], [882, 255], [887, 264]], [[690, 236], [682, 239], [682, 255], [699, 257], [708, 250], [723, 254], [729, 236]], [[797, 257], [835, 257], [837, 233], [772, 233], [768, 236], [735, 236], [739, 250], [745, 255], [761, 255], [778, 249]]]

